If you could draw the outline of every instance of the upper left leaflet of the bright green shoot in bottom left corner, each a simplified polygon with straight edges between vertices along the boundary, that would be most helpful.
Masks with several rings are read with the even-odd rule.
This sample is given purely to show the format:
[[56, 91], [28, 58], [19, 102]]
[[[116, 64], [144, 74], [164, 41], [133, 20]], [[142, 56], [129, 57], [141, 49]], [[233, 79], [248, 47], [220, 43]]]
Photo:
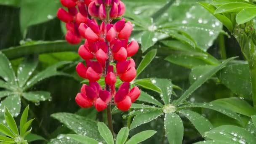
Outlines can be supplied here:
[[16, 136], [19, 136], [19, 131], [16, 125], [16, 122], [13, 118], [13, 116], [11, 115], [11, 113], [9, 112], [9, 110], [5, 107], [5, 120], [6, 123], [8, 124], [9, 128], [11, 129], [11, 131], [16, 134]]

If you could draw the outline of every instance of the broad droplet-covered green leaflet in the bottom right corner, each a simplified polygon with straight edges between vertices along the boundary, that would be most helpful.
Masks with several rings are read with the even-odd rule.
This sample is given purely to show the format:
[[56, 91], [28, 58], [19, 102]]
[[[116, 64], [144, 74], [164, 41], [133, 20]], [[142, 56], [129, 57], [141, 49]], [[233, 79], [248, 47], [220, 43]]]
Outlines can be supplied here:
[[[256, 138], [244, 128], [235, 125], [222, 125], [205, 133], [205, 137], [219, 141], [237, 141], [237, 144], [254, 144]], [[235, 139], [235, 140], [234, 140]]]

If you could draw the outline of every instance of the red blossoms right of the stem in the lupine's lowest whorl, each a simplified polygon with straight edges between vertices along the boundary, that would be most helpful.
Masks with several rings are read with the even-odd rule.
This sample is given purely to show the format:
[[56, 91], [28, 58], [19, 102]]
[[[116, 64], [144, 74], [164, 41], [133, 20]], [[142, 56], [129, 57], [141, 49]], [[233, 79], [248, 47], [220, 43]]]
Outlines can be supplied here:
[[134, 87], [129, 91], [130, 83], [123, 83], [115, 94], [114, 101], [118, 109], [127, 111], [131, 104], [139, 98], [141, 91], [138, 87]]

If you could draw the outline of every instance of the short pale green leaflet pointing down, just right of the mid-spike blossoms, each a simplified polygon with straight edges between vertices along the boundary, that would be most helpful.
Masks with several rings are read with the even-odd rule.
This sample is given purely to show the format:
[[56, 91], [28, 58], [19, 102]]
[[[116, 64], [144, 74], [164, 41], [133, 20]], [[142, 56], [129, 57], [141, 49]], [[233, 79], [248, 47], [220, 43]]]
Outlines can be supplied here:
[[141, 51], [144, 53], [148, 48], [153, 46], [157, 42], [155, 38], [155, 32], [153, 31], [145, 31], [141, 35]]

